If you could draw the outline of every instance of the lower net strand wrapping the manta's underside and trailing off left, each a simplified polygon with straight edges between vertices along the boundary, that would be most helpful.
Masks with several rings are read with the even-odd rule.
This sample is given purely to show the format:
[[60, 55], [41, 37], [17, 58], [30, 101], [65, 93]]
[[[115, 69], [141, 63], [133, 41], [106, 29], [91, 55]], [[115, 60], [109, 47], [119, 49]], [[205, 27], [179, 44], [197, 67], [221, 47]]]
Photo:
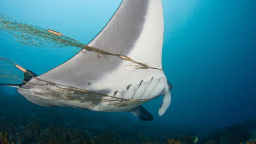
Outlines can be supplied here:
[[[29, 79], [35, 78], [35, 81], [28, 82]], [[117, 108], [124, 106], [142, 105], [149, 99], [122, 99], [114, 98], [105, 94], [79, 89], [73, 86], [55, 84], [44, 81], [36, 75], [13, 62], [10, 59], [0, 58], [0, 85], [23, 85], [22, 89], [28, 89], [26, 97], [34, 99], [54, 101], [54, 100], [71, 100], [83, 103], [83, 107], [93, 108], [94, 106], [107, 103], [107, 105]], [[106, 105], [106, 104], [105, 104]]]

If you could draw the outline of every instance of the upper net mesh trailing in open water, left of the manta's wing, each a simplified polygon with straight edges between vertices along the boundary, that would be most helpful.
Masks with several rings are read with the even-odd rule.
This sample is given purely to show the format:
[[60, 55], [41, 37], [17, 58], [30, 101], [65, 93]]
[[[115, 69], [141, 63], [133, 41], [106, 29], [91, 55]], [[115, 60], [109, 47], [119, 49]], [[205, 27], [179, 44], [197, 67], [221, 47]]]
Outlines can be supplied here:
[[[13, 35], [21, 45], [39, 47], [74, 47], [81, 50], [85, 45], [57, 31], [18, 22], [0, 12], [0, 29]], [[77, 51], [76, 50], [76, 51]]]

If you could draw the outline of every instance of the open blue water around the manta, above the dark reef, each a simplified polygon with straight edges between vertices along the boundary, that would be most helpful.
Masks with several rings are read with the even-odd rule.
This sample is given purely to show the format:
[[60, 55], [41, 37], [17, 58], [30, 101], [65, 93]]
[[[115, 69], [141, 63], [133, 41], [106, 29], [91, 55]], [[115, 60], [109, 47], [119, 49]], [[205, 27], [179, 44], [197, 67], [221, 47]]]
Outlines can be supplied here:
[[[17, 21], [60, 31], [87, 44], [106, 25], [121, 2], [11, 0], [0, 2], [0, 12]], [[154, 115], [151, 122], [141, 122], [130, 113], [84, 114], [126, 116], [129, 118], [124, 122], [127, 125], [162, 125], [201, 133], [256, 119], [256, 2], [162, 2], [165, 25], [162, 63], [164, 73], [173, 85], [169, 109], [163, 116], [158, 116], [163, 98], [159, 97], [143, 105]], [[10, 58], [38, 75], [75, 54], [69, 47], [20, 46], [4, 31], [0, 31], [0, 37], [0, 57]], [[1, 86], [1, 89], [2, 93], [11, 95], [9, 100], [16, 99], [14, 88]], [[0, 105], [4, 103], [0, 101]], [[31, 105], [34, 107], [40, 106]], [[46, 110], [54, 113], [55, 109]], [[67, 111], [74, 113], [75, 110]], [[86, 121], [89, 119], [87, 117]]]

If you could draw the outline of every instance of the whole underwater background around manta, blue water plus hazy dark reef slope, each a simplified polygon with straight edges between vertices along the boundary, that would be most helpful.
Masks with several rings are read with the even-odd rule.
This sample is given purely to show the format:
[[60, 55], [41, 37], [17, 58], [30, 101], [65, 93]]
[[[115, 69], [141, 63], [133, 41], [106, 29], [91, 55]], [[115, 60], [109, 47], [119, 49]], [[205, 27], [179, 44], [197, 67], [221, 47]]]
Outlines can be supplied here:
[[[121, 2], [9, 0], [0, 1], [0, 12], [87, 44]], [[170, 143], [167, 140], [173, 138], [182, 141], [179, 138], [185, 134], [198, 137], [197, 143], [205, 143], [209, 138], [217, 143], [256, 139], [256, 1], [162, 2], [162, 63], [173, 85], [172, 102], [163, 116], [158, 116], [163, 97], [143, 104], [154, 121], [142, 122], [131, 113], [37, 106], [19, 95], [16, 88], [0, 86], [0, 131], [23, 143], [43, 143], [46, 136], [48, 142], [60, 137], [58, 133], [52, 133], [56, 138], [50, 137], [49, 132], [54, 130], [74, 130], [87, 134], [84, 139], [105, 140], [98, 143], [107, 143], [106, 138], [112, 138], [109, 143], [118, 143], [113, 142], [117, 138], [124, 143]], [[11, 34], [0, 31], [0, 57], [10, 58], [37, 75], [74, 54], [70, 47], [21, 46]], [[237, 132], [237, 136], [229, 137], [227, 131]], [[230, 142], [238, 136], [241, 138]], [[79, 143], [76, 141], [66, 142]]]

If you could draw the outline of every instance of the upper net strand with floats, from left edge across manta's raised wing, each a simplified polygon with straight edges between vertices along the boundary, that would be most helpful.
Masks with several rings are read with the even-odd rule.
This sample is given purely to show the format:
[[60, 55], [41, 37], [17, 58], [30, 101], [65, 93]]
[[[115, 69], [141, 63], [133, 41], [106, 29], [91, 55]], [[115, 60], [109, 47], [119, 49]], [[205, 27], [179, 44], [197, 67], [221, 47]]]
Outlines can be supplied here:
[[[135, 63], [135, 69], [148, 69], [154, 67], [149, 67], [146, 63], [138, 62], [132, 60], [125, 55], [118, 53], [110, 53], [104, 50], [97, 49], [97, 47], [92, 47], [85, 45], [81, 42], [76, 41], [73, 38], [67, 37], [57, 31], [51, 29], [45, 29], [38, 26], [30, 25], [26, 22], [18, 22], [13, 20], [11, 17], [4, 15], [0, 12], [0, 29], [6, 31], [13, 35], [15, 41], [18, 41], [21, 45], [27, 46], [39, 46], [39, 47], [74, 47], [74, 52], [78, 52], [83, 49], [83, 52], [92, 51], [96, 52], [98, 57], [103, 57], [106, 60], [109, 59], [111, 55], [119, 57], [121, 59], [131, 61]], [[101, 54], [101, 55], [99, 55]], [[159, 69], [162, 70], [162, 69]]]

